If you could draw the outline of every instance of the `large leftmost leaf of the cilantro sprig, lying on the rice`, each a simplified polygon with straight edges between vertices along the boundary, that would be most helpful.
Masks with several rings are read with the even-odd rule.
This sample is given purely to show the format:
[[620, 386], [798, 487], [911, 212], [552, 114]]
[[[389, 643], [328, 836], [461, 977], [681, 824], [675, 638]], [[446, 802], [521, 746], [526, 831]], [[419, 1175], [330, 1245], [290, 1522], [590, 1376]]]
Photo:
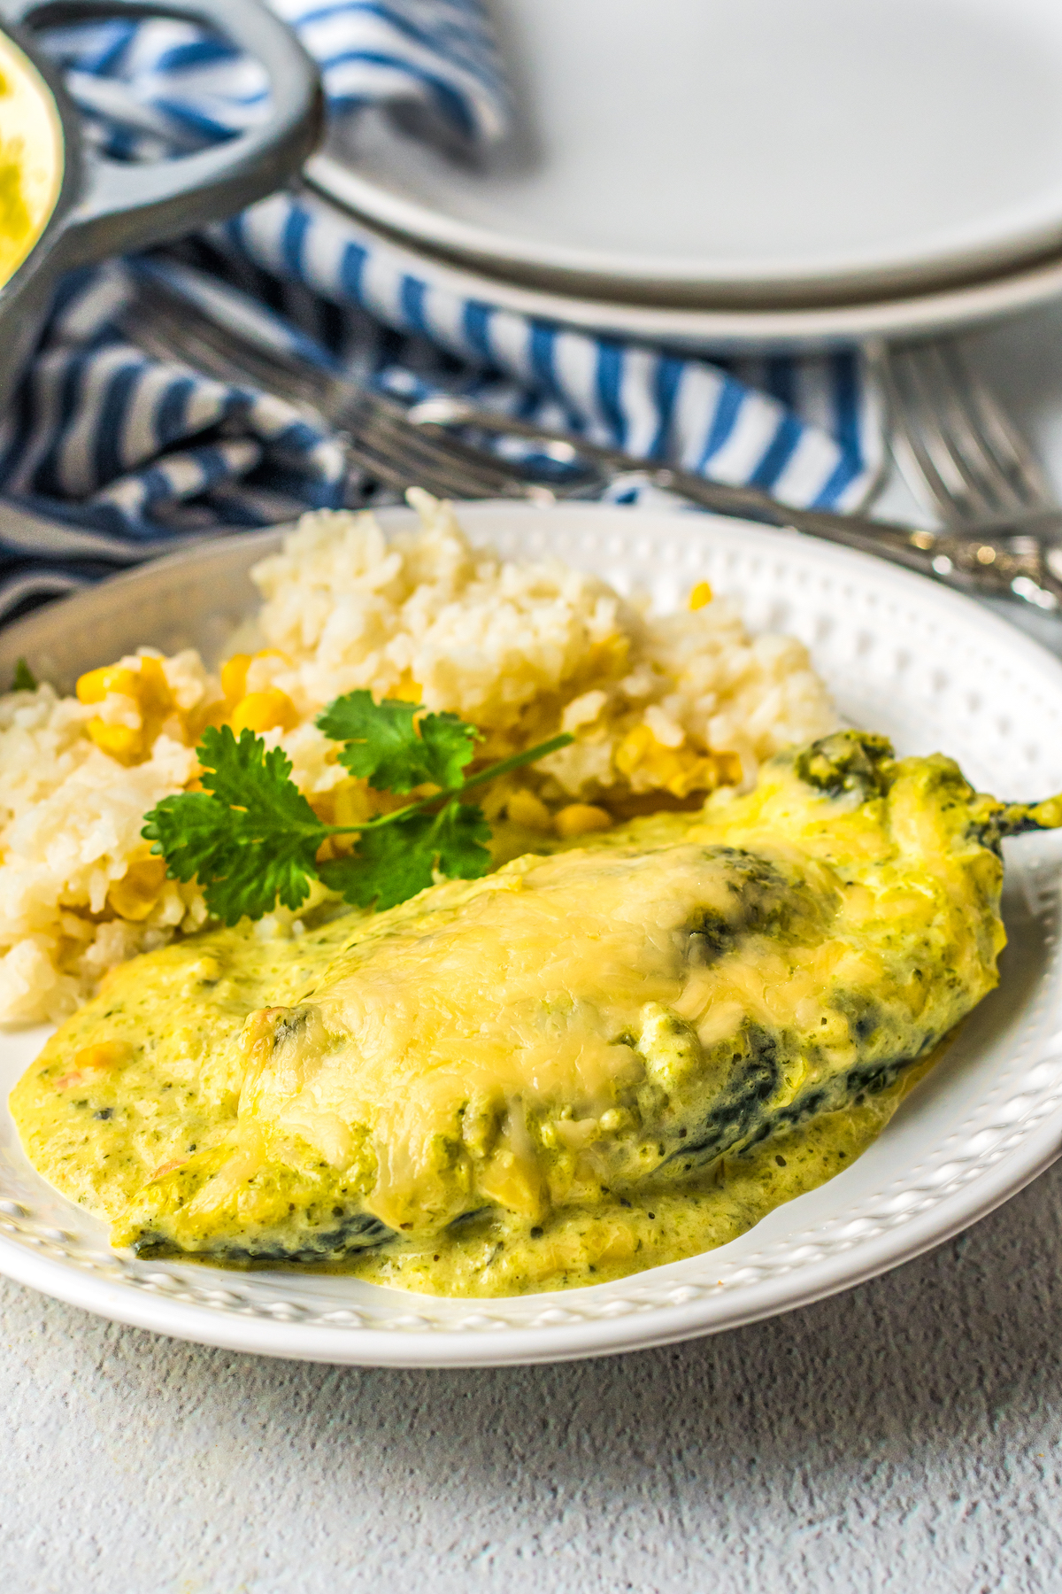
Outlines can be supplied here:
[[228, 725], [207, 727], [197, 756], [204, 791], [164, 797], [140, 834], [158, 843], [170, 878], [197, 877], [226, 925], [271, 913], [277, 897], [298, 909], [328, 829], [290, 779], [290, 760], [252, 730], [237, 741]]

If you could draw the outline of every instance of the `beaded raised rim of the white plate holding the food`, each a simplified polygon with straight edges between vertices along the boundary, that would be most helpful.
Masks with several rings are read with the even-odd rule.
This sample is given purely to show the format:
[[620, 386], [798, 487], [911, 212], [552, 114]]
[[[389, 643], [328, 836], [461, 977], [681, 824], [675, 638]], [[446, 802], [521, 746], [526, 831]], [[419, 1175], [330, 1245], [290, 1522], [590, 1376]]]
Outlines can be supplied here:
[[[459, 513], [474, 540], [522, 556], [564, 552], [572, 563], [595, 567], [619, 585], [654, 587], [664, 604], [705, 575], [721, 590], [734, 590], [744, 580], [744, 607], [755, 628], [788, 623], [806, 633], [802, 639], [812, 652], [830, 642], [828, 604], [822, 607], [828, 598], [841, 615], [833, 622], [831, 647], [839, 646], [837, 633], [842, 641], [845, 626], [857, 626], [860, 615], [865, 625], [863, 633], [857, 626], [853, 639], [858, 642], [861, 636], [866, 647], [861, 654], [861, 642], [855, 649], [842, 681], [839, 658], [830, 657], [842, 701], [858, 705], [860, 693], [869, 690], [874, 658], [884, 654], [890, 679], [903, 682], [900, 695], [892, 693], [900, 722], [920, 724], [927, 719], [927, 692], [944, 695], [955, 714], [957, 738], [971, 743], [978, 733], [986, 735], [986, 714], [1003, 724], [1008, 713], [1017, 713], [1013, 705], [1021, 705], [1021, 714], [1037, 730], [1037, 740], [1024, 749], [1029, 771], [1021, 778], [1062, 784], [1062, 736], [1054, 738], [1059, 754], [1051, 754], [1051, 771], [1043, 775], [1037, 768], [1041, 741], [1051, 741], [1044, 735], [1051, 722], [1062, 732], [1062, 665], [1005, 620], [920, 577], [791, 532], [685, 512], [476, 504], [460, 505]], [[404, 510], [388, 510], [381, 518], [385, 526], [409, 521]], [[172, 590], [201, 575], [221, 590], [210, 572], [225, 567], [229, 580], [247, 591], [247, 566], [274, 547], [277, 536], [220, 539], [38, 611], [0, 636], [0, 669], [8, 655], [40, 649], [49, 634], [68, 639], [80, 628], [92, 634], [94, 617], [99, 623], [103, 611], [127, 611], [129, 599], [164, 593], [167, 583]], [[242, 580], [234, 575], [239, 571]], [[752, 588], [756, 572], [761, 585]], [[815, 603], [809, 603], [810, 591]], [[788, 622], [787, 607], [793, 611]], [[911, 666], [919, 663], [919, 644], [947, 660], [947, 666], [938, 662], [936, 674], [916, 682], [916, 690]], [[954, 679], [963, 669], [966, 681]], [[987, 703], [987, 689], [978, 685], [984, 676], [992, 679]], [[939, 713], [939, 705], [933, 713]], [[997, 725], [997, 741], [1006, 735]], [[379, 1366], [489, 1366], [646, 1349], [736, 1328], [850, 1288], [984, 1216], [1049, 1167], [1062, 1149], [1062, 968], [1056, 932], [1062, 846], [1052, 842], [1037, 840], [1037, 854], [1011, 870], [1027, 904], [1030, 945], [1041, 944], [1043, 969], [1016, 1007], [1019, 1033], [992, 1042], [1000, 1055], [998, 1079], [971, 1100], [970, 1111], [955, 1114], [949, 1133], [931, 1140], [895, 1178], [833, 1215], [826, 1211], [820, 1221], [799, 1218], [810, 1211], [809, 1202], [822, 1191], [834, 1192], [855, 1168], [777, 1208], [729, 1247], [610, 1285], [446, 1301], [355, 1280], [349, 1299], [339, 1285], [338, 1294], [333, 1291], [331, 1299], [322, 1301], [304, 1275], [140, 1262], [110, 1251], [99, 1226], [51, 1192], [24, 1157], [19, 1164], [5, 1106], [0, 1272], [68, 1304], [180, 1339], [274, 1356]], [[1003, 1019], [997, 1019], [997, 1028]], [[0, 1036], [0, 1050], [3, 1046]], [[981, 1050], [971, 1041], [962, 1066], [979, 1066]], [[908, 1137], [917, 1135], [919, 1113], [928, 1113], [923, 1090], [919, 1087], [911, 1098], [912, 1113], [904, 1122], [914, 1127], [906, 1130]], [[879, 1144], [884, 1141], [885, 1137]]]

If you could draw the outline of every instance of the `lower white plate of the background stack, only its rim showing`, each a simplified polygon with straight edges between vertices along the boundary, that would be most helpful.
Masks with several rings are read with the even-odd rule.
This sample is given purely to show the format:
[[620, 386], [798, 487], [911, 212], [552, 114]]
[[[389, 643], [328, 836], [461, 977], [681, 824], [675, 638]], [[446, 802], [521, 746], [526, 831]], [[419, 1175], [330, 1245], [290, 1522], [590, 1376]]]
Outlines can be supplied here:
[[[428, 249], [381, 233], [349, 210], [353, 204], [350, 172], [328, 155], [312, 156], [304, 175], [310, 188], [331, 206], [347, 210], [341, 222], [344, 238], [365, 244], [374, 257], [388, 257], [408, 276], [439, 293], [454, 300], [498, 304], [519, 316], [578, 327], [589, 333], [662, 343], [707, 355], [817, 352], [873, 340], [936, 336], [1062, 298], [1062, 253], [1035, 266], [987, 276], [963, 287], [865, 303], [785, 309], [688, 309], [619, 301], [607, 295], [586, 298], [524, 287], [497, 273], [487, 274], [484, 269], [441, 258]], [[385, 317], [392, 309], [390, 301], [381, 304]]]

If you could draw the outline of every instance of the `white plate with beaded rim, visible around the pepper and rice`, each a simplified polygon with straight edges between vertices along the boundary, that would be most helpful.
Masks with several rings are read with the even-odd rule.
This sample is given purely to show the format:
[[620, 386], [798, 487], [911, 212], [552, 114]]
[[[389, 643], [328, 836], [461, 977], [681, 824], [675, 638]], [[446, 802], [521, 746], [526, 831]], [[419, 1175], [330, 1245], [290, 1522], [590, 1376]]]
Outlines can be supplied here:
[[[385, 513], [408, 523], [404, 510]], [[709, 579], [755, 628], [810, 647], [842, 711], [903, 751], [946, 748], [1008, 797], [1062, 786], [1062, 665], [943, 588], [863, 555], [707, 515], [600, 505], [476, 504], [470, 534], [559, 555], [681, 603]], [[123, 575], [0, 634], [0, 679], [25, 654], [68, 679], [139, 642], [215, 654], [253, 601], [247, 567], [275, 534], [244, 536]], [[1013, 1196], [1062, 1144], [1062, 838], [1008, 843], [1011, 945], [1001, 988], [839, 1178], [734, 1243], [618, 1283], [500, 1301], [439, 1301], [342, 1277], [139, 1262], [40, 1180], [0, 1114], [0, 1270], [91, 1312], [234, 1350], [334, 1363], [551, 1361], [734, 1328], [917, 1256]], [[0, 1087], [43, 1031], [0, 1039]]]

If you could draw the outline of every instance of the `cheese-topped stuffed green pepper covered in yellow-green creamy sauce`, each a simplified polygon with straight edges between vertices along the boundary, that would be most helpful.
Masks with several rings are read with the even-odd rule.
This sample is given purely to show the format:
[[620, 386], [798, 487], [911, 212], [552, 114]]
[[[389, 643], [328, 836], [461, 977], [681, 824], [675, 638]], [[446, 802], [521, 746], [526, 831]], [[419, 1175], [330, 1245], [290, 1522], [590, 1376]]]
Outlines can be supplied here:
[[874, 738], [852, 776], [853, 741], [387, 913], [134, 960], [13, 1092], [27, 1154], [142, 1254], [439, 1294], [724, 1245], [853, 1162], [995, 983], [998, 805]]

